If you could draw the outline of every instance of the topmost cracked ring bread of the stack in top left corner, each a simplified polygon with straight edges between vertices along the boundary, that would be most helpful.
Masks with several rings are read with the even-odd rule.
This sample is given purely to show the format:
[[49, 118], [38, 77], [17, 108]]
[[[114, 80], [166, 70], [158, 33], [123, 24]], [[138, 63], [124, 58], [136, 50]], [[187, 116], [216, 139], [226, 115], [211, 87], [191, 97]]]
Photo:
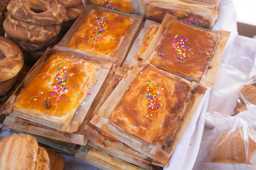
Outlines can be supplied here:
[[22, 21], [41, 25], [60, 24], [66, 13], [59, 0], [10, 0], [7, 10]]

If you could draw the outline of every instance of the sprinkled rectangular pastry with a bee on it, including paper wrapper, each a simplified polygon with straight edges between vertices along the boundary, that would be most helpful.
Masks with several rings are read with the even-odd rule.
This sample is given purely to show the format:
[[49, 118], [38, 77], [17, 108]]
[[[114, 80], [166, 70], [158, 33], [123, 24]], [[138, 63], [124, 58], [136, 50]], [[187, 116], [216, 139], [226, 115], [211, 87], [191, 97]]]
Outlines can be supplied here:
[[7, 113], [76, 132], [112, 62], [47, 49], [3, 105]]

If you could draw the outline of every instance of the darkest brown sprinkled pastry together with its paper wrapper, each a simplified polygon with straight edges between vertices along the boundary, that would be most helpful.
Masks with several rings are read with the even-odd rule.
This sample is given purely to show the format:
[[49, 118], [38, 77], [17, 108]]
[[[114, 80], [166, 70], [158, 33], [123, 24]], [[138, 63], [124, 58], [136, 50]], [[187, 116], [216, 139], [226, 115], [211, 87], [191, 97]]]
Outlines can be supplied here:
[[163, 70], [213, 87], [229, 32], [202, 29], [168, 13], [160, 27], [142, 58]]

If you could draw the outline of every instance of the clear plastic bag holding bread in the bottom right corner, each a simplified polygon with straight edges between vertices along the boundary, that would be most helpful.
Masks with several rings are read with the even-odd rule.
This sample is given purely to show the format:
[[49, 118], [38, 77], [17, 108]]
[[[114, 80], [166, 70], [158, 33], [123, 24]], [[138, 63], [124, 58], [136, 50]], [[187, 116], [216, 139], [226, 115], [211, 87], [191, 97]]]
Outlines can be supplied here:
[[256, 108], [238, 115], [203, 113], [212, 130], [208, 130], [201, 148], [206, 151], [203, 170], [256, 169]]

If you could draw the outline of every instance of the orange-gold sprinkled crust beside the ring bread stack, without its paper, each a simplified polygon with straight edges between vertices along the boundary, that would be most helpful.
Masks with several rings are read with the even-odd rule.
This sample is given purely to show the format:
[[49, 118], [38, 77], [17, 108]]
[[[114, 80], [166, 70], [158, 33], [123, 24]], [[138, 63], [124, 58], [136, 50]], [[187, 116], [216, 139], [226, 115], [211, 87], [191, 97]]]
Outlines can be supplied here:
[[[70, 39], [67, 48], [103, 58], [113, 58], [124, 41], [132, 21], [132, 18], [117, 13], [92, 10]], [[103, 24], [103, 28], [97, 30], [96, 23], [99, 23], [99, 27]], [[93, 31], [94, 29], [96, 31]]]

